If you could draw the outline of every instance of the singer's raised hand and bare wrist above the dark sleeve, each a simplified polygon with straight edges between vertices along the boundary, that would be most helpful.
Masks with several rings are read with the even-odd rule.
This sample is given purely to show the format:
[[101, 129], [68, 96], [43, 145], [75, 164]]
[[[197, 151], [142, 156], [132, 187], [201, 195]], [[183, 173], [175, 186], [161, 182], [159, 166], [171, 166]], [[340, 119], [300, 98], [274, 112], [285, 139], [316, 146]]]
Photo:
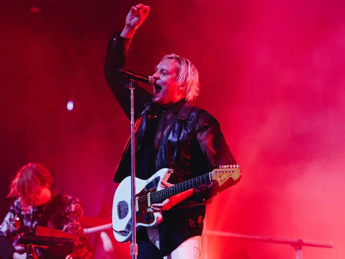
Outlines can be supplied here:
[[124, 38], [131, 38], [134, 35], [136, 29], [138, 29], [143, 23], [150, 11], [149, 6], [144, 6], [144, 4], [137, 4], [132, 6], [127, 17], [126, 17], [126, 26], [122, 31], [121, 36]]

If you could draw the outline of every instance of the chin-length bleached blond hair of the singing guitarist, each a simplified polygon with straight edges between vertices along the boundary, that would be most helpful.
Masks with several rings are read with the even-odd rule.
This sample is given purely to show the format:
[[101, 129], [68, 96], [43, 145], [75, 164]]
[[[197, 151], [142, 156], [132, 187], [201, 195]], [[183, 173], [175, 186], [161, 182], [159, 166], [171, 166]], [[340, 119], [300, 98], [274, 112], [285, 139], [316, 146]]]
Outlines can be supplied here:
[[185, 94], [187, 101], [193, 101], [199, 95], [199, 73], [196, 67], [189, 61], [189, 59], [181, 58], [172, 53], [165, 55], [160, 62], [165, 59], [172, 59], [177, 64], [178, 75], [177, 82], [179, 85], [186, 84]]

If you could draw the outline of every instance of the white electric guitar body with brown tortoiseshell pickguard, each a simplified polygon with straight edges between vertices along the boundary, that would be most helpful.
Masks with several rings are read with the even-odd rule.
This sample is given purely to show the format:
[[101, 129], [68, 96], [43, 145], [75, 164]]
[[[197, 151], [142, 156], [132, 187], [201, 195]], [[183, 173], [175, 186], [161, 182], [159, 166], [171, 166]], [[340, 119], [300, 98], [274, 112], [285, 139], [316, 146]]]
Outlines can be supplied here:
[[[141, 227], [156, 227], [162, 221], [160, 212], [153, 212], [150, 194], [164, 189], [161, 181], [167, 181], [170, 170], [163, 168], [147, 180], [135, 179], [136, 231]], [[115, 239], [121, 243], [131, 240], [131, 176], [126, 177], [116, 189], [112, 204], [112, 229]]]

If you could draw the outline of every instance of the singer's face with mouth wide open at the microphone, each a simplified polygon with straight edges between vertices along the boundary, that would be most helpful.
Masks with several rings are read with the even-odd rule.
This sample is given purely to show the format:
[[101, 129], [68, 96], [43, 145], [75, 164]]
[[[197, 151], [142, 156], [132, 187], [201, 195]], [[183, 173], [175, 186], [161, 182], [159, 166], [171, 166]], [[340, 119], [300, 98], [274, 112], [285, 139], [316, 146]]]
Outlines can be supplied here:
[[178, 69], [173, 59], [165, 59], [156, 67], [153, 75], [155, 83], [153, 87], [152, 102], [162, 106], [169, 106], [181, 99], [181, 90], [177, 85]]

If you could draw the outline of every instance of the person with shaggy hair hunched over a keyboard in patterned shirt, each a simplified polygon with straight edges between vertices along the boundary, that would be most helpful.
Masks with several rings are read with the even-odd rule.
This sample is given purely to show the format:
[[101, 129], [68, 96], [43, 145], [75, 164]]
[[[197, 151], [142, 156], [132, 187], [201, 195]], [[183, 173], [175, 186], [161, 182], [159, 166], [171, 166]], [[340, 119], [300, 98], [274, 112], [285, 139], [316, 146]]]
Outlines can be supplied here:
[[41, 164], [29, 163], [17, 172], [7, 197], [18, 197], [0, 225], [0, 254], [3, 259], [26, 258], [14, 248], [18, 240], [17, 218], [22, 226], [37, 226], [66, 231], [74, 235], [73, 252], [54, 256], [50, 249], [40, 249], [43, 258], [93, 259], [90, 245], [81, 227], [83, 209], [80, 201], [72, 196], [59, 194], [51, 189], [53, 179]]

